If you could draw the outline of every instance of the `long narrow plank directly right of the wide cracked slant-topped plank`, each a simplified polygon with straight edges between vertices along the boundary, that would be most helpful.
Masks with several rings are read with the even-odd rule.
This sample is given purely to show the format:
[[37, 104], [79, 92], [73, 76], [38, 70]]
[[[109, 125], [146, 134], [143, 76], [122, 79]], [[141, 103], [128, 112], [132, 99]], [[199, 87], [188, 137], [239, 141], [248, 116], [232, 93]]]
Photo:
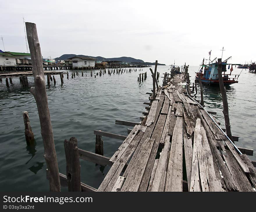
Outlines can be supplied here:
[[154, 165], [154, 159], [155, 159], [156, 154], [157, 154], [157, 149], [159, 147], [159, 143], [160, 143], [161, 135], [162, 135], [162, 132], [163, 132], [164, 123], [166, 121], [166, 117], [167, 117], [167, 115], [164, 115], [164, 114], [159, 115], [156, 127], [155, 127], [155, 129], [153, 131], [153, 134], [151, 136], [151, 138], [154, 139], [155, 142], [153, 144], [153, 148], [152, 148], [152, 151], [150, 153], [150, 157], [149, 157], [148, 162], [147, 162], [145, 173], [144, 173], [143, 178], [141, 180], [141, 185], [139, 187], [139, 191], [147, 191], [148, 183], [149, 183], [149, 180], [150, 180], [150, 174], [152, 172], [152, 168], [153, 168], [153, 165]]

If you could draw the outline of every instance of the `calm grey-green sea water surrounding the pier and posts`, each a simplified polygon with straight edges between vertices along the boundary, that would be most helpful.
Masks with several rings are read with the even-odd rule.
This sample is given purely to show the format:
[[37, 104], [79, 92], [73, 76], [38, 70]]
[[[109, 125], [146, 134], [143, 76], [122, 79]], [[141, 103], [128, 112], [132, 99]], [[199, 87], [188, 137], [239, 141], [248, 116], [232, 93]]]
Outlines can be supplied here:
[[[168, 71], [170, 66], [159, 66], [158, 71]], [[189, 67], [191, 82], [194, 72], [199, 67]], [[152, 67], [154, 69], [154, 66]], [[139, 117], [145, 111], [143, 102], [148, 101], [146, 92], [152, 89], [152, 78], [149, 68], [148, 78], [144, 82], [137, 82], [138, 74], [123, 73], [109, 76], [108, 74], [90, 77], [90, 71], [84, 71], [84, 76], [66, 79], [61, 85], [56, 76], [56, 85], [51, 82], [47, 89], [51, 123], [58, 157], [59, 171], [66, 173], [65, 152], [63, 142], [75, 136], [79, 148], [94, 152], [95, 135], [93, 130], [102, 130], [116, 134], [127, 135], [127, 126], [115, 125], [115, 119], [139, 122]], [[241, 69], [234, 69], [232, 74], [239, 74]], [[87, 76], [85, 76], [87, 74]], [[33, 77], [28, 77], [29, 86], [33, 86]], [[162, 78], [159, 81], [162, 81]], [[233, 135], [241, 136], [237, 146], [256, 150], [255, 139], [255, 105], [256, 105], [256, 75], [243, 70], [239, 83], [227, 87], [230, 109], [230, 122]], [[161, 84], [161, 83], [159, 83]], [[0, 167], [1, 191], [49, 191], [46, 180], [46, 164], [43, 158], [44, 147], [40, 134], [40, 122], [35, 100], [29, 89], [22, 88], [19, 78], [13, 79], [7, 88], [5, 80], [0, 82]], [[198, 88], [198, 91], [200, 89]], [[200, 99], [200, 93], [195, 96]], [[204, 87], [206, 108], [217, 112], [214, 115], [225, 128], [222, 99], [219, 88]], [[252, 100], [249, 102], [245, 100]], [[36, 145], [27, 146], [24, 136], [24, 122], [22, 112], [28, 111], [34, 132]], [[122, 141], [102, 137], [104, 141], [104, 155], [111, 157]], [[255, 156], [250, 159], [256, 160]], [[81, 181], [98, 188], [109, 167], [102, 167], [80, 160]], [[67, 188], [63, 187], [63, 191]]]

